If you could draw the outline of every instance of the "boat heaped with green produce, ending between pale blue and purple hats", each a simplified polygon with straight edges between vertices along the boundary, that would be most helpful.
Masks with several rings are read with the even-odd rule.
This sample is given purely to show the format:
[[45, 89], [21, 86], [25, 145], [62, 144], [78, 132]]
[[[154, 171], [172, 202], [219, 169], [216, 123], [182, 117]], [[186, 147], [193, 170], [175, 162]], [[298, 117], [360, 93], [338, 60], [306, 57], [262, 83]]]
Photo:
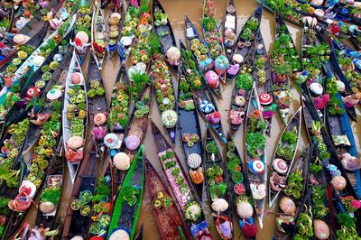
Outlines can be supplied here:
[[[125, 70], [125, 65], [122, 64], [116, 75], [116, 82], [112, 90], [112, 97], [110, 98], [110, 108], [107, 115], [107, 124], [109, 134], [116, 134], [118, 143], [116, 147], [110, 149], [120, 149], [125, 137], [127, 125], [130, 122], [129, 106], [130, 106], [130, 93], [126, 86], [129, 86], [128, 74]], [[121, 98], [121, 101], [118, 98]], [[124, 101], [124, 102], [122, 102]], [[125, 107], [122, 107], [125, 105]], [[119, 117], [119, 114], [120, 117]]]

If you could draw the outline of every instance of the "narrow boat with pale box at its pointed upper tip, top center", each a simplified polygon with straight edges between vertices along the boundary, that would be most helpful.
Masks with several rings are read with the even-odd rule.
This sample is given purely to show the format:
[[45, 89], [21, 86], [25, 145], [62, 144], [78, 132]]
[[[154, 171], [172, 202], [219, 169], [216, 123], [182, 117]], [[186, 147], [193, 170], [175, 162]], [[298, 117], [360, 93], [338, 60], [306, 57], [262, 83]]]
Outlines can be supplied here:
[[[184, 29], [186, 32], [186, 40], [188, 42], [190, 51], [194, 59], [197, 60], [198, 63], [195, 65], [195, 68], [198, 69], [199, 72], [201, 71], [202, 73], [206, 73], [210, 70], [213, 71], [214, 62], [212, 56], [210, 55], [208, 46], [203, 41], [202, 37], [199, 35], [199, 32], [197, 31], [196, 26], [190, 21], [190, 18], [187, 15], [184, 16]], [[183, 43], [180, 43], [180, 51], [183, 47], [185, 48], [185, 45]], [[215, 76], [215, 74], [212, 74], [212, 76], [213, 78], [217, 78], [217, 75]], [[210, 89], [212, 90], [213, 94], [216, 97], [222, 99], [222, 92], [218, 80], [214, 85], [212, 85], [212, 88]]]

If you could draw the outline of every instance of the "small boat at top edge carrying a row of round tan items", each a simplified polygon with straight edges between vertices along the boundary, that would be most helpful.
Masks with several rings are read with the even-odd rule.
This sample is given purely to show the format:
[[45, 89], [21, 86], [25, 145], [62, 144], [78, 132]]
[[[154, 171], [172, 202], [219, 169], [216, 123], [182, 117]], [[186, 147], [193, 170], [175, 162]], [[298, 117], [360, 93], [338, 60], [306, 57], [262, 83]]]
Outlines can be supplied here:
[[121, 0], [114, 0], [112, 2], [113, 4], [110, 6], [110, 13], [108, 14], [106, 20], [106, 51], [109, 60], [112, 59], [114, 53], [116, 52], [116, 47], [121, 36], [121, 28], [123, 26], [123, 22], [125, 21], [123, 2], [121, 2]]

